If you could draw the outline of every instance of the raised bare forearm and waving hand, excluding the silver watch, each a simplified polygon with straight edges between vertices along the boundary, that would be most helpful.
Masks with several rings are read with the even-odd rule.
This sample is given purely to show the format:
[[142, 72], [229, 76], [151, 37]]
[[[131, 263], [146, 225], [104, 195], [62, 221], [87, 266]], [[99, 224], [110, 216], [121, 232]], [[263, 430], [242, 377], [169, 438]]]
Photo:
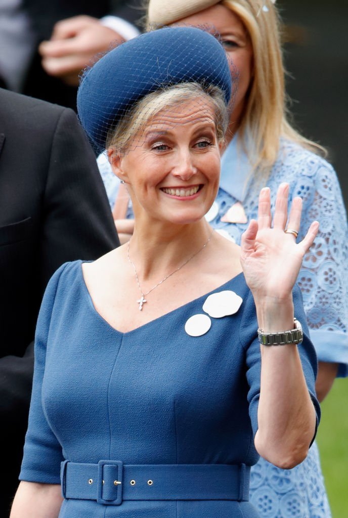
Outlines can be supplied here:
[[[241, 263], [253, 293], [257, 320], [265, 333], [294, 327], [292, 289], [303, 255], [314, 241], [318, 224], [296, 244], [285, 234], [288, 185], [279, 188], [271, 228], [270, 191], [259, 198], [258, 222], [242, 237]], [[288, 227], [298, 230], [301, 199], [295, 198]], [[315, 409], [295, 344], [261, 346], [261, 380], [255, 447], [272, 464], [289, 469], [306, 457], [315, 432]]]

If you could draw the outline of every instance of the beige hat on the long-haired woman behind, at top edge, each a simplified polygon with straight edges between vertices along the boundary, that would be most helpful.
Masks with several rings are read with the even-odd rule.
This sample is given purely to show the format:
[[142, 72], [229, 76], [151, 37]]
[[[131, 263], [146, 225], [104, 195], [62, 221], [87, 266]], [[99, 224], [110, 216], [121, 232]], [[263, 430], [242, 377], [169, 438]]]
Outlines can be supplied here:
[[219, 2], [221, 0], [150, 0], [148, 26], [169, 25]]

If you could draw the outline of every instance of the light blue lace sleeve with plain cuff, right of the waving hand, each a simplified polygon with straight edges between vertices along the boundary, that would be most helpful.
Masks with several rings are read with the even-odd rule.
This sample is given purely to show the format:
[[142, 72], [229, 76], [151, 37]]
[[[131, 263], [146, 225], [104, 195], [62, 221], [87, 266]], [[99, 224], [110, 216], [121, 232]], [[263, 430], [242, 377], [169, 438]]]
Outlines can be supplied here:
[[[334, 169], [316, 159], [295, 187], [303, 198], [299, 239], [311, 222], [318, 235], [305, 256], [298, 277], [311, 339], [322, 362], [339, 364], [338, 376], [348, 376], [348, 230], [340, 185]], [[307, 176], [308, 174], [308, 176]]]

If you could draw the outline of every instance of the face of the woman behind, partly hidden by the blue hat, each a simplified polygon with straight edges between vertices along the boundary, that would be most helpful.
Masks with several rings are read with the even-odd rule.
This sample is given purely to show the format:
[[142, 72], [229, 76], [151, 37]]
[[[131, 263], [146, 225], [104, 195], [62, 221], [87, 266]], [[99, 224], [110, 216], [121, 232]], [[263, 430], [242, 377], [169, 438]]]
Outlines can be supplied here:
[[[230, 117], [230, 130], [234, 133], [238, 128], [245, 105], [245, 95], [253, 76], [253, 49], [249, 34], [240, 18], [222, 4], [216, 4], [195, 15], [183, 18], [176, 25], [181, 23], [213, 26], [221, 35], [228, 59], [233, 61], [238, 69], [238, 91]], [[234, 78], [235, 71], [232, 67], [230, 68]]]

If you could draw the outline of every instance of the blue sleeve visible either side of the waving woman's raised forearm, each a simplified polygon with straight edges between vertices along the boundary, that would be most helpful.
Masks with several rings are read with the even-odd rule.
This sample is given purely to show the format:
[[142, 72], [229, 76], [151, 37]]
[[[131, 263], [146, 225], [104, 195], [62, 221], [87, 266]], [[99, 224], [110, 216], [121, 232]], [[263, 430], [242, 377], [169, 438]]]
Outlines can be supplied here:
[[[294, 309], [297, 320], [303, 328], [303, 342], [300, 343], [298, 351], [301, 358], [303, 373], [305, 375], [308, 391], [313, 401], [316, 413], [316, 426], [313, 441], [316, 435], [316, 429], [320, 421], [320, 405], [315, 396], [315, 378], [317, 375], [317, 359], [315, 349], [309, 338], [308, 327], [306, 324], [306, 315], [303, 310], [302, 296], [298, 286], [293, 290]], [[240, 327], [240, 343], [245, 350], [245, 361], [247, 364], [247, 380], [249, 384], [248, 402], [249, 415], [253, 434], [255, 437], [258, 429], [257, 410], [260, 396], [260, 377], [261, 377], [261, 354], [260, 344], [257, 337], [257, 318], [256, 308], [252, 294], [249, 294], [247, 303], [243, 311], [242, 322]], [[277, 387], [274, 387], [277, 390]]]

